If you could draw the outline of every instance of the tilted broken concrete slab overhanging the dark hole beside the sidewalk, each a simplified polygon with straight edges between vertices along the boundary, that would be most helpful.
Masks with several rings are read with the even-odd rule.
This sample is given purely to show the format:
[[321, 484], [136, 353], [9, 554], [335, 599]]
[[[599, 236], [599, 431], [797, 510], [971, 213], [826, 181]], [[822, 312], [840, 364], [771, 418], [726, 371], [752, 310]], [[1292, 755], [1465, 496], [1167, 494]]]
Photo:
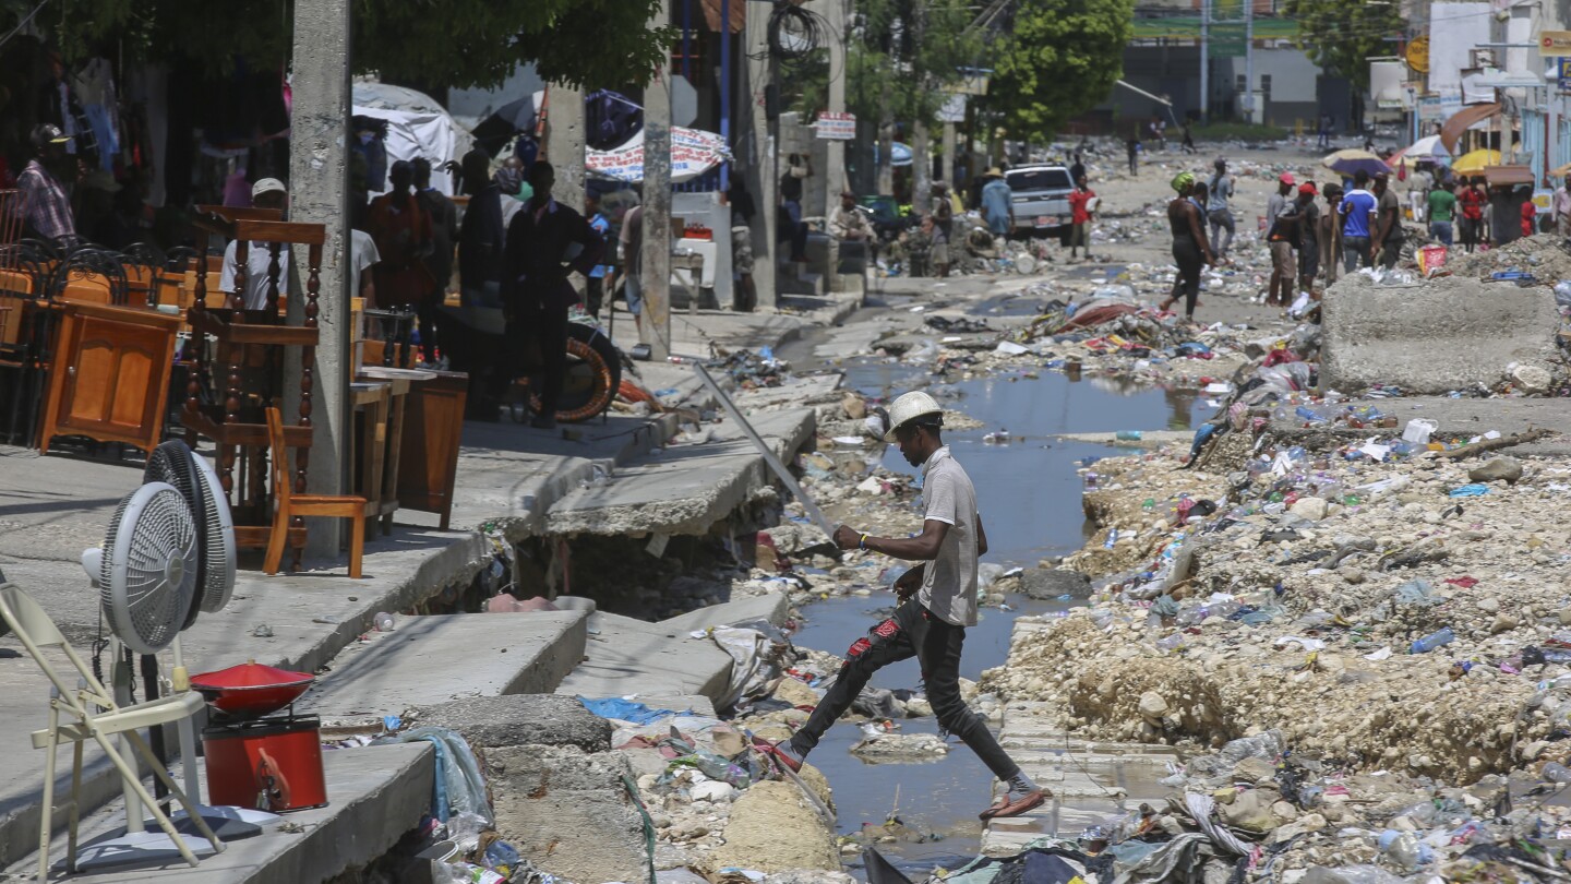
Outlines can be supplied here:
[[[767, 414], [754, 428], [778, 455], [789, 459], [811, 437], [814, 422], [811, 409], [795, 409]], [[745, 439], [727, 439], [729, 433], [718, 433], [721, 440], [650, 451], [616, 470], [603, 486], [567, 494], [551, 506], [545, 532], [602, 536], [639, 536], [657, 530], [705, 533], [771, 481], [757, 448]]]

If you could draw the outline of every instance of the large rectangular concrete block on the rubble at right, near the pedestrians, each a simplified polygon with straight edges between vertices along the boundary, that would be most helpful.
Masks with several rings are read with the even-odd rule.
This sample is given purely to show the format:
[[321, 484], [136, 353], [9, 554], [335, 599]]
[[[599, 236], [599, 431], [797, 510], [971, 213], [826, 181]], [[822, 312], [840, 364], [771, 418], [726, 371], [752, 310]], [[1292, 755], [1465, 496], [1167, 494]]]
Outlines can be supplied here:
[[1395, 384], [1408, 393], [1445, 393], [1492, 387], [1521, 366], [1558, 378], [1558, 324], [1554, 293], [1541, 286], [1463, 277], [1378, 286], [1353, 274], [1331, 286], [1321, 307], [1320, 387]]

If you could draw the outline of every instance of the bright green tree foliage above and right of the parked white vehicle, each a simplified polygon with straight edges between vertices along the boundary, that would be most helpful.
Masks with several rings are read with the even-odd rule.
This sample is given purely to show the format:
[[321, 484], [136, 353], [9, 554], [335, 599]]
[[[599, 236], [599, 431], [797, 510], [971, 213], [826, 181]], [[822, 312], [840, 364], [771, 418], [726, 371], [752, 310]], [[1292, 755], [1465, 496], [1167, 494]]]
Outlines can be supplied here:
[[988, 83], [1016, 138], [1048, 140], [1108, 98], [1123, 74], [1134, 0], [1020, 0]]

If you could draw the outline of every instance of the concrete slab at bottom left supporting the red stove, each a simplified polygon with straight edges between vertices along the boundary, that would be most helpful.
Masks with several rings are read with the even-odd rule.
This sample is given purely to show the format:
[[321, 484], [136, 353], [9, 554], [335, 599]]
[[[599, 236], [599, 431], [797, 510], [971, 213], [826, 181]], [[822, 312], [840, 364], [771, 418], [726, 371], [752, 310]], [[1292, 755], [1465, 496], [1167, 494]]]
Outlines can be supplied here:
[[[284, 815], [292, 832], [264, 831], [253, 838], [229, 842], [222, 854], [203, 859], [196, 868], [182, 860], [159, 867], [119, 867], [69, 881], [83, 884], [314, 884], [385, 854], [419, 824], [430, 807], [435, 753], [427, 742], [336, 749], [324, 753], [328, 805]], [[206, 788], [206, 785], [204, 785]], [[124, 824], [124, 810], [105, 808], [83, 821], [83, 840], [113, 832]], [[57, 838], [55, 862], [64, 859], [66, 842]], [[13, 875], [31, 871], [33, 857], [14, 864]]]

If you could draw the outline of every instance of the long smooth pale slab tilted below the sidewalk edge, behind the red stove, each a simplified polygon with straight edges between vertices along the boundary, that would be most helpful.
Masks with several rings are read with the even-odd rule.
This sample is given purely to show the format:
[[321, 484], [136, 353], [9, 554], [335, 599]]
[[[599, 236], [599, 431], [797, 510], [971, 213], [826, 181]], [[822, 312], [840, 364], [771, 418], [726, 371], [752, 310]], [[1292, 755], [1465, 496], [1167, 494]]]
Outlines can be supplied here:
[[335, 657], [298, 703], [324, 719], [401, 714], [462, 697], [550, 694], [583, 659], [588, 613], [399, 617]]

